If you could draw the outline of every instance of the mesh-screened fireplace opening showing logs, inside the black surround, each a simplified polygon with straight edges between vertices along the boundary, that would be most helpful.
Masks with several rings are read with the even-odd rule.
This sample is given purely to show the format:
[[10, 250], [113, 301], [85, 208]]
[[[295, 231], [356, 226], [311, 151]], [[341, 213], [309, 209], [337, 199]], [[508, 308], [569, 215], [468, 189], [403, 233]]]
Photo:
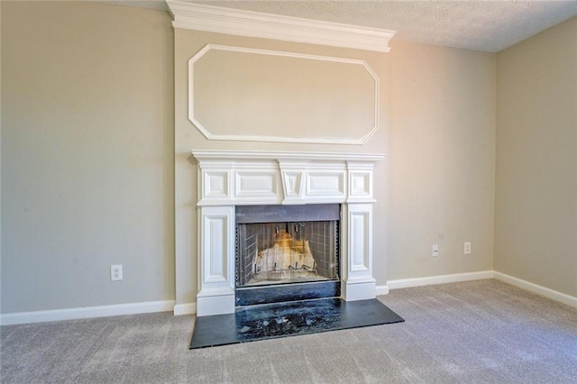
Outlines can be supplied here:
[[338, 224], [237, 223], [236, 286], [338, 280]]

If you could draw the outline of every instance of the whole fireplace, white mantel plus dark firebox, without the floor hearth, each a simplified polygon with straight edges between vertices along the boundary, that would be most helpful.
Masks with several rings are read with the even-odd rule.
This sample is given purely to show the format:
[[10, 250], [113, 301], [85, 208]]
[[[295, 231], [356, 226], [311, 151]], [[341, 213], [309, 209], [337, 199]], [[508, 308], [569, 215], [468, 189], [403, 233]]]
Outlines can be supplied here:
[[198, 165], [197, 316], [232, 314], [236, 306], [255, 304], [255, 297], [259, 303], [262, 297], [376, 296], [372, 169], [382, 155], [192, 153]]

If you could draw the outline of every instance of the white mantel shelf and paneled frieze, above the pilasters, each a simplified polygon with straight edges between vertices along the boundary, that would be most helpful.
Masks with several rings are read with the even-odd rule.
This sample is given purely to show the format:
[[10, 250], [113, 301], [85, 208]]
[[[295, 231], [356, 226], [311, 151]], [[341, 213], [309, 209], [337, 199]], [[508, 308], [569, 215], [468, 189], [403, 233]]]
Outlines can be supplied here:
[[198, 206], [373, 203], [372, 168], [384, 158], [323, 152], [192, 153], [203, 180]]

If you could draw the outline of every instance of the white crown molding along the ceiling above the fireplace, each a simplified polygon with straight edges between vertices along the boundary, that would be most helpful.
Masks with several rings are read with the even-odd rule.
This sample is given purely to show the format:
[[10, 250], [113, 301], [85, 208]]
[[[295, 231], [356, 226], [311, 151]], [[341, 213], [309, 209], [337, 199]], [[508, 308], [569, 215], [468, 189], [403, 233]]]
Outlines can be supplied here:
[[167, 0], [174, 28], [389, 52], [396, 31]]

